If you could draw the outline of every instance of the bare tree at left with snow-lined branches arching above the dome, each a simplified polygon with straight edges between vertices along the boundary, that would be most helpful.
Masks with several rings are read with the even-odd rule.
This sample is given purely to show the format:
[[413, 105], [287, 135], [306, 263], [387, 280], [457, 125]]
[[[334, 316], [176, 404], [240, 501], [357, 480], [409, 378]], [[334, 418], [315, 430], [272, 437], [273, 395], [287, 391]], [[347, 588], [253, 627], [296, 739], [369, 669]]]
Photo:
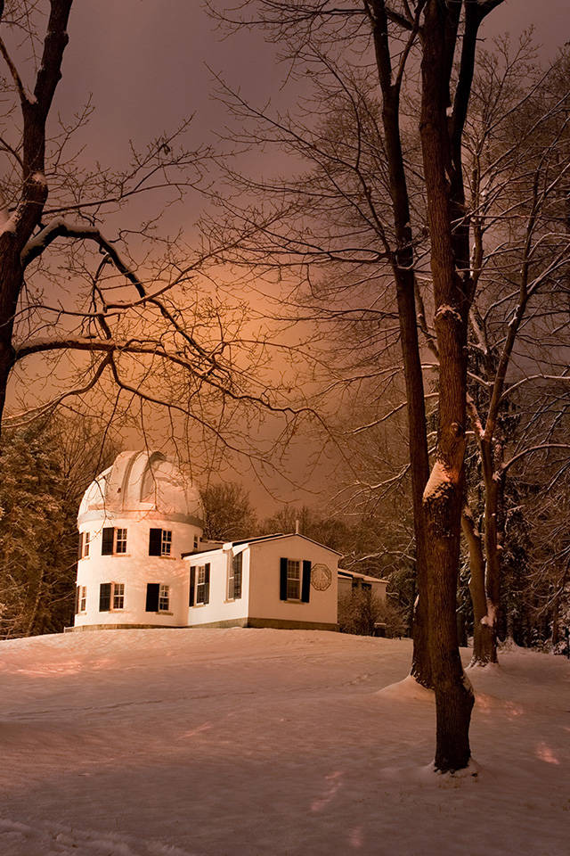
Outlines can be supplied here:
[[[306, 408], [262, 377], [265, 346], [244, 301], [212, 286], [206, 268], [219, 248], [192, 249], [159, 228], [165, 206], [199, 193], [211, 152], [187, 147], [184, 119], [133, 146], [125, 169], [77, 160], [74, 132], [90, 105], [59, 127], [52, 115], [71, 9], [72, 0], [12, 0], [0, 21], [0, 417], [9, 381], [26, 390], [26, 369], [41, 359], [52, 394], [32, 405], [36, 415], [89, 392], [111, 415], [163, 408], [179, 437], [193, 425], [210, 444], [264, 457], [251, 421], [273, 411], [287, 433]], [[147, 196], [141, 223], [128, 206]]]

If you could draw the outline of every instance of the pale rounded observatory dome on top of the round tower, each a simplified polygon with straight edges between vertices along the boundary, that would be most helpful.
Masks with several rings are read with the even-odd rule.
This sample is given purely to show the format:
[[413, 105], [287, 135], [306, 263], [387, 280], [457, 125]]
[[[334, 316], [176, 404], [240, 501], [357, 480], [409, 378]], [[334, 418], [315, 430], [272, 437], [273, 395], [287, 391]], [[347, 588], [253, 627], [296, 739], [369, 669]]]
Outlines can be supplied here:
[[77, 524], [125, 514], [159, 514], [182, 522], [201, 521], [199, 490], [162, 452], [121, 452], [91, 482], [79, 506]]

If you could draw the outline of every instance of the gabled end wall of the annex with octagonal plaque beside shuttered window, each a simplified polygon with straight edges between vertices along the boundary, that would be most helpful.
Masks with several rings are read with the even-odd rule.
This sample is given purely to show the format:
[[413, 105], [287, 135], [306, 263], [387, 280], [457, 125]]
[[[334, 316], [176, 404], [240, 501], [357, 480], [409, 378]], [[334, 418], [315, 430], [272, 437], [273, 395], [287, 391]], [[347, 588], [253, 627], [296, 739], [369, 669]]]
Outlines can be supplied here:
[[[249, 579], [249, 618], [284, 622], [318, 624], [337, 623], [338, 554], [298, 535], [289, 535], [250, 545], [251, 574]], [[330, 570], [330, 586], [325, 590], [310, 588], [309, 603], [280, 599], [281, 557], [326, 565]]]

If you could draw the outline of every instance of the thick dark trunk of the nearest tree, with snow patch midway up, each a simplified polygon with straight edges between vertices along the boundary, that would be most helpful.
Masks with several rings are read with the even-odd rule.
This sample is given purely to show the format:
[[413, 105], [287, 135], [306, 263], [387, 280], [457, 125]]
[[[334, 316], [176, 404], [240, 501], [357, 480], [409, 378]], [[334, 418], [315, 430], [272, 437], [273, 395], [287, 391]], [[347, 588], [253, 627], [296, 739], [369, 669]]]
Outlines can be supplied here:
[[463, 673], [455, 620], [460, 559], [460, 517], [467, 401], [468, 295], [455, 269], [451, 172], [446, 111], [457, 12], [428, 0], [423, 28], [419, 132], [428, 200], [431, 270], [439, 353], [439, 424], [436, 464], [424, 491], [429, 542], [428, 621], [436, 689], [436, 770], [466, 767], [474, 696]]

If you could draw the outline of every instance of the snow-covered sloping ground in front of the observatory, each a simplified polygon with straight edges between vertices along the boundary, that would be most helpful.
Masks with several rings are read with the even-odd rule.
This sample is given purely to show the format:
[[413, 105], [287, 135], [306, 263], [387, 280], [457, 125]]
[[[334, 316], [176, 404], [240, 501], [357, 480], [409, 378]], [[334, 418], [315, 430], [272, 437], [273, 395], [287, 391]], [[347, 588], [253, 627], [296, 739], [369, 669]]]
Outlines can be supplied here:
[[0, 853], [566, 856], [566, 660], [470, 672], [478, 775], [452, 778], [428, 769], [431, 695], [388, 686], [410, 655], [286, 630], [2, 642]]

